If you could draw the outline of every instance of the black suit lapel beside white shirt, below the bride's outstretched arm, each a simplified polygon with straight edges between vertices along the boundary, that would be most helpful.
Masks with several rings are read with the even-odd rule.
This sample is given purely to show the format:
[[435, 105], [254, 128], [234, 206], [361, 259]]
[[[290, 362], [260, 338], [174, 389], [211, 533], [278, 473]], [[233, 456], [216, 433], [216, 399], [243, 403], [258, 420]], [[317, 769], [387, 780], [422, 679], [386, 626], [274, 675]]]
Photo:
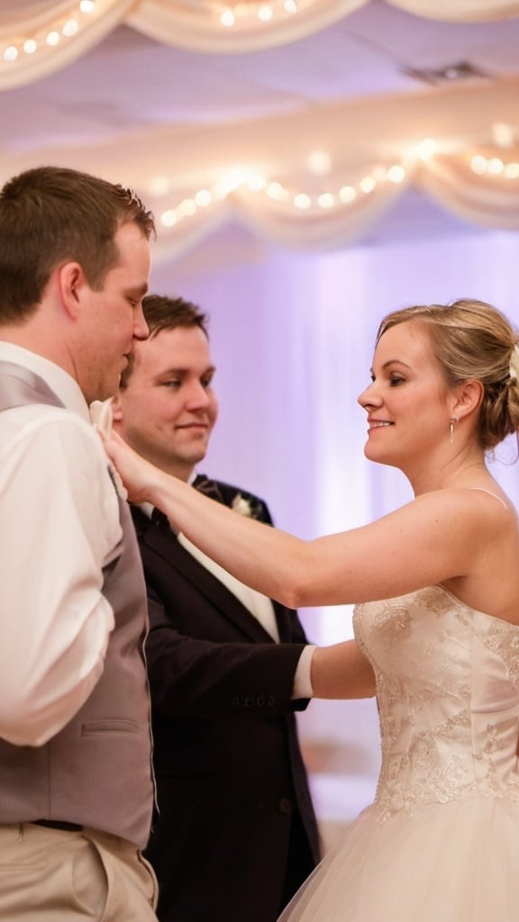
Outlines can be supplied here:
[[233, 621], [236, 627], [246, 632], [251, 640], [261, 644], [275, 643], [258, 619], [242, 605], [234, 593], [179, 544], [166, 522], [156, 525], [134, 506], [132, 506], [132, 515], [139, 542], [160, 556], [163, 563], [172, 567], [180, 578], [195, 586], [213, 607], [221, 611], [224, 618]]

